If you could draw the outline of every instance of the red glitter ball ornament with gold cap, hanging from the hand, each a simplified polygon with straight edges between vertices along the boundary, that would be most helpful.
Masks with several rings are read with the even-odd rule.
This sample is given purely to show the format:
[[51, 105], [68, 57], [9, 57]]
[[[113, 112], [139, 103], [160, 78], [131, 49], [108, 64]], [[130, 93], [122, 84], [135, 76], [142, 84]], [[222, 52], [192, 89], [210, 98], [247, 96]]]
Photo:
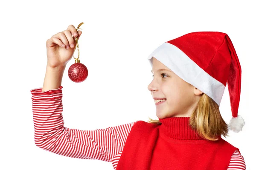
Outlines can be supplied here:
[[68, 69], [68, 77], [75, 83], [83, 82], [88, 76], [88, 69], [84, 64], [80, 63], [80, 60], [76, 60], [76, 63], [72, 64]]

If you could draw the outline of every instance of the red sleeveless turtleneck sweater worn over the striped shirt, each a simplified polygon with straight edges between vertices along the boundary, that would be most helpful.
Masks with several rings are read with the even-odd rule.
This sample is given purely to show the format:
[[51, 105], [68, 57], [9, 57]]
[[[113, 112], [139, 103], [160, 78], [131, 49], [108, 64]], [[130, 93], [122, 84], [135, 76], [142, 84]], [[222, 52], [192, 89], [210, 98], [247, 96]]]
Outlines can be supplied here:
[[239, 151], [221, 136], [218, 141], [201, 138], [189, 127], [189, 117], [159, 120], [161, 125], [134, 124], [116, 170], [227, 170]]

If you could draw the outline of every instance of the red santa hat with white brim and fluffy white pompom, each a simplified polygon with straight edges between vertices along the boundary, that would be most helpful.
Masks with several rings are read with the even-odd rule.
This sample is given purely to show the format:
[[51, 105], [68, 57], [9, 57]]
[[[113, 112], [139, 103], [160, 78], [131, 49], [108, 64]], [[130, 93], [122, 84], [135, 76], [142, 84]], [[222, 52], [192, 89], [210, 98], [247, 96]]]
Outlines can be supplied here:
[[229, 128], [238, 133], [244, 126], [238, 115], [241, 66], [230, 37], [223, 32], [191, 32], [169, 40], [149, 56], [207, 94], [218, 106], [228, 84], [232, 118]]

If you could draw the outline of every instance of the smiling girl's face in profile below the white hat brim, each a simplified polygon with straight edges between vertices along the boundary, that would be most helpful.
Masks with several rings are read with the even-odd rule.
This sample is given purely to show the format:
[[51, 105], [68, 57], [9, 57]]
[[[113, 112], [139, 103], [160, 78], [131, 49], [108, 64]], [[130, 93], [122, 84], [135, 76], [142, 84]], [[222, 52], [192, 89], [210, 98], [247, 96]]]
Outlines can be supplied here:
[[148, 90], [153, 98], [166, 98], [166, 101], [156, 105], [157, 117], [190, 117], [203, 92], [178, 77], [154, 57], [152, 73], [154, 78]]

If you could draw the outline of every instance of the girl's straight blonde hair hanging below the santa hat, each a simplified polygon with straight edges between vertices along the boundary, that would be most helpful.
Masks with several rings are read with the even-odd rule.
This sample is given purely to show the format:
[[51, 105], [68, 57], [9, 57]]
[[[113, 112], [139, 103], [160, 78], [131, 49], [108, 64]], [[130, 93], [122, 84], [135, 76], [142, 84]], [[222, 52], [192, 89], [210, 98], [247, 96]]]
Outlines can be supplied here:
[[[149, 118], [148, 123], [162, 124], [159, 120]], [[189, 126], [205, 139], [217, 141], [220, 135], [225, 138], [228, 125], [221, 117], [218, 104], [205, 93], [202, 94], [197, 106], [189, 118]]]

